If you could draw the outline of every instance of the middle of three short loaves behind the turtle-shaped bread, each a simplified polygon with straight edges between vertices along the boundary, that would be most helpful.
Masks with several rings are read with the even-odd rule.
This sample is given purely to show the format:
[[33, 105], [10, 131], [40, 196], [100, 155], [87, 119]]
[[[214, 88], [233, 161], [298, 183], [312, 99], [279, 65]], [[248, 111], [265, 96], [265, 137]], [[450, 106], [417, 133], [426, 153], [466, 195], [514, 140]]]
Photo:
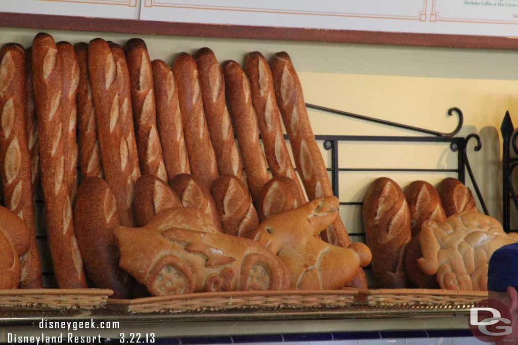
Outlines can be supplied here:
[[410, 209], [412, 237], [419, 235], [425, 221], [446, 219], [439, 193], [428, 182], [412, 182], [405, 188], [405, 198]]

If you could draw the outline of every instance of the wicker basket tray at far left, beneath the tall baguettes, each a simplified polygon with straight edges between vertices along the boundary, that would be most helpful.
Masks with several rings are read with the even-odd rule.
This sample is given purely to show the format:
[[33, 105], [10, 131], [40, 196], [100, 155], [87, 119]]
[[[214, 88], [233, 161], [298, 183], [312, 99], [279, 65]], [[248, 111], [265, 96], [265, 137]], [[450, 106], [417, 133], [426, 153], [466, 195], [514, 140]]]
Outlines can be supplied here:
[[106, 304], [108, 289], [0, 290], [0, 308], [31, 310], [95, 309]]

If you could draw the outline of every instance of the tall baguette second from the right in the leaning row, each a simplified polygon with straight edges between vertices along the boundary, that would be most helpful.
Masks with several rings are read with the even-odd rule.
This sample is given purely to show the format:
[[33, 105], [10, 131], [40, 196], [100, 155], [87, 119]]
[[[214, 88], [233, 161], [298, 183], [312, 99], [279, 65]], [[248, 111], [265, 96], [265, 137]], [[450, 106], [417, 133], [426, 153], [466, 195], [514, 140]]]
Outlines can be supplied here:
[[249, 53], [244, 58], [244, 71], [250, 80], [252, 104], [263, 139], [266, 160], [272, 175], [293, 180], [301, 200], [306, 200], [282, 134], [280, 112], [275, 96], [274, 80], [270, 66], [260, 52]]

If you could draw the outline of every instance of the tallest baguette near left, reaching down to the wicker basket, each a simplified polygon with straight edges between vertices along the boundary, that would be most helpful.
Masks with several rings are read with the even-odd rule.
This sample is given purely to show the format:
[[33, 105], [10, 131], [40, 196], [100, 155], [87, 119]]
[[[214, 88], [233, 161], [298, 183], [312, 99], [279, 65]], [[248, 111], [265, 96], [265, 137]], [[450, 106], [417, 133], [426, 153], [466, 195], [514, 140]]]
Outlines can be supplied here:
[[[33, 41], [34, 98], [38, 112], [41, 184], [44, 191], [46, 229], [57, 284], [63, 289], [87, 286], [72, 219], [72, 200], [65, 180], [63, 121], [63, 68], [52, 36], [38, 34]], [[68, 67], [68, 66], [67, 66]]]

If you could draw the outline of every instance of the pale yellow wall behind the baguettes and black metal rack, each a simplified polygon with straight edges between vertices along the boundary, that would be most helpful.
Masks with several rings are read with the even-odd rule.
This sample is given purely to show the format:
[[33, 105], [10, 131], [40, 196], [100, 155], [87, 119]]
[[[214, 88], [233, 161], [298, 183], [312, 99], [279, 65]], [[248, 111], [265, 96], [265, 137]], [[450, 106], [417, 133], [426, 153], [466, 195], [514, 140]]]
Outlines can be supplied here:
[[[37, 30], [0, 28], [0, 42], [29, 46]], [[133, 35], [49, 31], [56, 41], [72, 43], [103, 37], [124, 43]], [[290, 53], [303, 83], [306, 101], [390, 121], [449, 132], [457, 120], [450, 107], [465, 115], [461, 134], [479, 133], [481, 152], [469, 157], [491, 215], [501, 219], [500, 123], [506, 110], [518, 113], [518, 54], [514, 51], [329, 44], [243, 39], [140, 35], [151, 58], [170, 63], [182, 51], [210, 47], [220, 61], [242, 61], [258, 50], [267, 58]], [[315, 134], [420, 135], [337, 115], [310, 111]], [[518, 115], [514, 117], [518, 125]], [[456, 154], [444, 144], [359, 144], [340, 146], [341, 167], [456, 168]], [[324, 155], [328, 160], [328, 155]], [[437, 183], [442, 173], [342, 173], [341, 201], [362, 201], [373, 178], [386, 175], [402, 187], [415, 179]], [[351, 233], [363, 233], [359, 207], [343, 207]], [[362, 236], [356, 236], [362, 241]]]

